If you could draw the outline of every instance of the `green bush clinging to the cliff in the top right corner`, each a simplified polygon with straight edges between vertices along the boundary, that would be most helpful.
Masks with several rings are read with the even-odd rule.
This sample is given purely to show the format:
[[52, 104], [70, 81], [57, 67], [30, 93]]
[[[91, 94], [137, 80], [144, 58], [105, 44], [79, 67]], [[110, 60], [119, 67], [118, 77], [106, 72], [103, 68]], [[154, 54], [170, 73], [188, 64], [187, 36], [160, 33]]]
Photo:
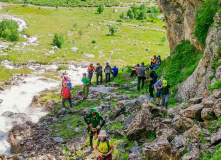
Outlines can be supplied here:
[[221, 0], [207, 0], [196, 11], [195, 36], [201, 44], [205, 44], [210, 26], [213, 24], [213, 17], [221, 5]]

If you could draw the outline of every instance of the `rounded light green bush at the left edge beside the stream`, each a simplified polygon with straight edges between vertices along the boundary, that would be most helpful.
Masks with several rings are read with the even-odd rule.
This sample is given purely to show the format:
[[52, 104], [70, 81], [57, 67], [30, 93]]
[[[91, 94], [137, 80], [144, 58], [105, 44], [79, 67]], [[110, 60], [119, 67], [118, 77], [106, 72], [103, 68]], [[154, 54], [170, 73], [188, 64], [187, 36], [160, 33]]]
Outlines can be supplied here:
[[0, 22], [0, 37], [11, 42], [19, 41], [18, 24], [12, 20]]

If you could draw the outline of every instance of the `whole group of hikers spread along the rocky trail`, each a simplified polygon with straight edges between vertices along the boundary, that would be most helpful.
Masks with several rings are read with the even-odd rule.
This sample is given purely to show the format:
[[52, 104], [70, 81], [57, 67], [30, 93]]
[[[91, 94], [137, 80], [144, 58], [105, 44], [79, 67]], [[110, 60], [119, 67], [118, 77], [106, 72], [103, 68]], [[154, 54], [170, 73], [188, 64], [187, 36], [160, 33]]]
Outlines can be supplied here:
[[[89, 86], [91, 84], [91, 80], [93, 77], [93, 74], [96, 73], [96, 83], [99, 84], [99, 78], [100, 78], [100, 84], [102, 83], [102, 74], [105, 73], [106, 77], [106, 83], [110, 82], [110, 76], [111, 74], [116, 77], [118, 75], [118, 68], [116, 65], [114, 65], [113, 68], [109, 65], [109, 63], [106, 63], [106, 66], [104, 70], [102, 69], [102, 66], [97, 63], [96, 68], [91, 63], [90, 66], [87, 69], [88, 77], [86, 73], [83, 73], [82, 83], [83, 83], [83, 99], [87, 99], [88, 92], [89, 92]], [[158, 68], [161, 65], [161, 58], [158, 55], [154, 56], [153, 60], [151, 61], [151, 65], [146, 68], [144, 67], [144, 63], [141, 63], [141, 65], [137, 64], [136, 67], [133, 67], [131, 76], [137, 76], [138, 82], [137, 82], [137, 90], [140, 91], [140, 88], [144, 87], [145, 82], [149, 82], [149, 93], [150, 98], [154, 98], [153, 92], [156, 92], [156, 102], [157, 106], [164, 106], [167, 108], [168, 106], [168, 100], [169, 100], [169, 94], [172, 93], [172, 87], [167, 83], [164, 76], [161, 76], [160, 79], [158, 79], [158, 76], [154, 69]], [[147, 74], [147, 71], [149, 70], [149, 76]], [[70, 103], [70, 108], [72, 108], [71, 104], [71, 80], [67, 76], [66, 72], [63, 74], [62, 77], [62, 90], [61, 95], [62, 98], [62, 105], [63, 108], [65, 107], [65, 101], [68, 100]], [[141, 87], [140, 87], [141, 85]], [[161, 97], [161, 100], [160, 100]], [[91, 151], [95, 151], [95, 153], [98, 155], [99, 160], [111, 160], [112, 159], [112, 152], [114, 151], [114, 146], [111, 142], [111, 139], [107, 135], [105, 130], [101, 130], [101, 128], [105, 125], [105, 119], [101, 117], [101, 115], [98, 113], [96, 108], [92, 108], [88, 115], [84, 116], [84, 120], [86, 124], [88, 125], [88, 132], [90, 137], [90, 147]], [[97, 137], [97, 140], [95, 141], [94, 147], [93, 147], [93, 137]]]

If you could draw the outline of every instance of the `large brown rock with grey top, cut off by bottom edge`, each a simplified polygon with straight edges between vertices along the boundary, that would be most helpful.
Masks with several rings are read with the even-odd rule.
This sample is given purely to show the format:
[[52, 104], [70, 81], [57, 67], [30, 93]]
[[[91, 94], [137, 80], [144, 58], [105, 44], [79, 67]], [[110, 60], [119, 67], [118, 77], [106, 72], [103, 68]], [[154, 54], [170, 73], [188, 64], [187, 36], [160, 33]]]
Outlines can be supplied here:
[[151, 143], [145, 143], [142, 148], [143, 160], [179, 160], [180, 154], [175, 147], [171, 147], [166, 138], [161, 137]]

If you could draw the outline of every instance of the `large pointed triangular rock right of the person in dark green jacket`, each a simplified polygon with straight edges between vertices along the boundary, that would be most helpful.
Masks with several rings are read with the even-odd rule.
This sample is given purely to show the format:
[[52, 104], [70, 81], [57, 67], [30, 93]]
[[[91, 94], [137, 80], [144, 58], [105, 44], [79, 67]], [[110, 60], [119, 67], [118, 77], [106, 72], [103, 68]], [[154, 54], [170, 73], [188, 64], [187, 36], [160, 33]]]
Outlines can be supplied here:
[[132, 123], [126, 130], [128, 139], [141, 139], [147, 136], [148, 132], [153, 131], [151, 114], [147, 105], [143, 105], [143, 109], [137, 114]]

